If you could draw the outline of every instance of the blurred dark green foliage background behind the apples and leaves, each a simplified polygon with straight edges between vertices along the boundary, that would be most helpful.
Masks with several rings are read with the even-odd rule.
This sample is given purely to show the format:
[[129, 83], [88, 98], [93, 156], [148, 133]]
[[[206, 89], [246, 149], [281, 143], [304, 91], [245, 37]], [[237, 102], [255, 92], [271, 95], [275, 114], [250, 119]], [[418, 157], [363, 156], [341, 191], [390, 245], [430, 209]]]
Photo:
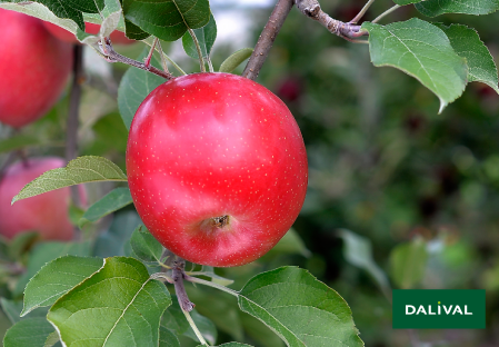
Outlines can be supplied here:
[[[216, 69], [241, 44], [255, 44], [271, 11], [262, 4], [213, 1], [216, 20], [239, 13], [249, 33], [237, 38], [221, 32], [237, 31], [230, 21], [219, 27], [224, 39], [213, 49]], [[348, 21], [363, 2], [323, 0], [321, 6], [331, 17]], [[372, 20], [391, 6], [377, 1], [365, 19]], [[381, 23], [411, 17], [423, 18], [409, 6]], [[499, 13], [441, 16], [436, 21], [476, 28], [498, 62]], [[177, 43], [164, 47], [186, 71], [199, 70]], [[142, 48], [137, 43], [118, 49], [134, 58]], [[123, 167], [127, 130], [116, 93], [127, 67], [86, 59], [80, 153], [106, 156]], [[375, 68], [367, 44], [337, 38], [296, 9], [257, 81], [288, 105], [307, 146], [309, 190], [293, 227], [302, 241], [289, 237], [255, 264], [217, 271], [236, 279], [233, 288], [239, 289], [262, 270], [303, 267], [347, 300], [366, 346], [499, 346], [498, 95], [471, 83], [438, 115], [438, 98], [418, 81], [391, 68]], [[27, 147], [30, 156], [63, 156], [67, 109], [63, 96], [47, 117], [22, 129], [33, 142]], [[0, 127], [3, 145], [11, 137], [10, 129]], [[6, 152], [3, 147], [0, 160]], [[110, 187], [89, 189], [92, 202]], [[133, 216], [132, 208], [119, 212], [114, 222], [127, 216]], [[112, 226], [106, 220], [88, 235], [109, 235]], [[10, 293], [16, 279], [0, 279], [2, 296], [17, 299]], [[486, 289], [487, 329], [393, 330], [391, 288]], [[217, 325], [219, 343], [236, 338], [255, 346], [283, 346], [260, 323], [241, 314], [231, 297], [204, 289], [190, 288], [189, 294], [199, 313]], [[188, 339], [183, 344], [196, 346]]]

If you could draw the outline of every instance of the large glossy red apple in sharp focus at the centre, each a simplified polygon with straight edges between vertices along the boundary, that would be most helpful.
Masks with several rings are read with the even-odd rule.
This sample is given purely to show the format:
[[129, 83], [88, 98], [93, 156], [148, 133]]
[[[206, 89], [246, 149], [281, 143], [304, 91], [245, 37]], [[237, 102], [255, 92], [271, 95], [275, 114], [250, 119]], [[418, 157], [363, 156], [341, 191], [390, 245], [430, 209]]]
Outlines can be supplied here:
[[186, 260], [240, 266], [295, 222], [308, 182], [300, 129], [265, 87], [228, 73], [194, 73], [156, 88], [127, 145], [137, 211]]

